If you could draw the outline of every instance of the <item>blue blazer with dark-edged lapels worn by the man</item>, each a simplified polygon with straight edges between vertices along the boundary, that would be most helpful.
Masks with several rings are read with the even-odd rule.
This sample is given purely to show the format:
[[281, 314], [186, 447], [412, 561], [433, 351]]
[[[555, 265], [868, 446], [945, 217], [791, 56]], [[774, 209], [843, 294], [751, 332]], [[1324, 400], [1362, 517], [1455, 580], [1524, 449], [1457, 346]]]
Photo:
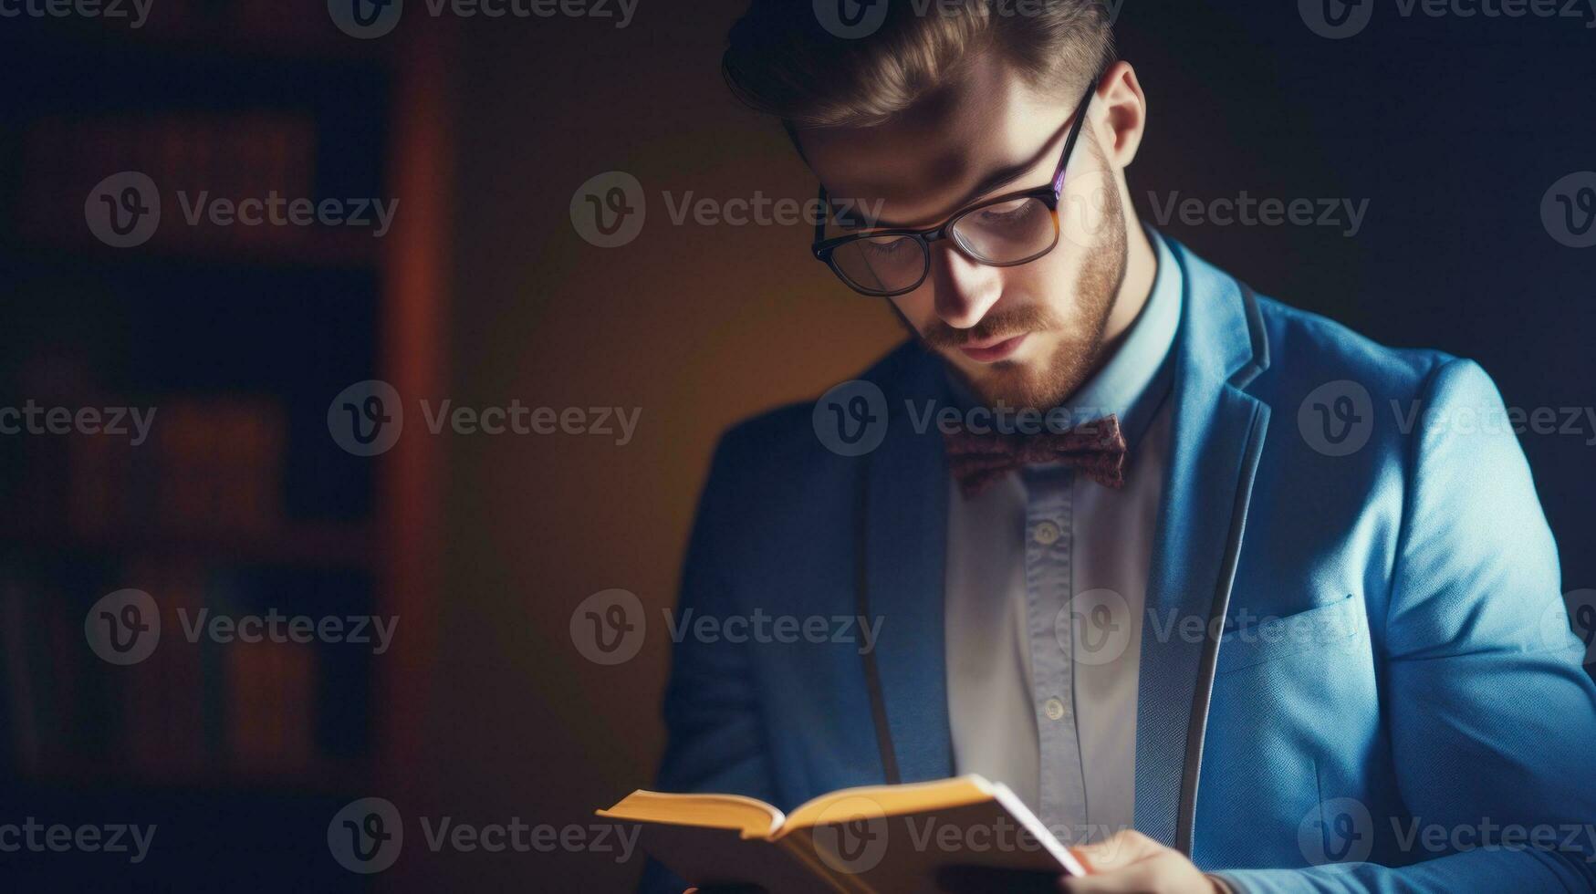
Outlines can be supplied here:
[[[1170, 246], [1186, 286], [1146, 600], [1216, 635], [1143, 626], [1136, 829], [1240, 891], [1596, 888], [1596, 686], [1491, 378]], [[905, 782], [954, 773], [948, 471], [940, 433], [905, 410], [948, 399], [938, 364], [908, 343], [862, 375], [887, 399], [862, 457], [820, 442], [812, 404], [723, 437], [678, 611], [867, 607], [881, 631], [873, 667], [859, 642], [685, 637], [659, 789], [788, 809], [891, 765]]]

